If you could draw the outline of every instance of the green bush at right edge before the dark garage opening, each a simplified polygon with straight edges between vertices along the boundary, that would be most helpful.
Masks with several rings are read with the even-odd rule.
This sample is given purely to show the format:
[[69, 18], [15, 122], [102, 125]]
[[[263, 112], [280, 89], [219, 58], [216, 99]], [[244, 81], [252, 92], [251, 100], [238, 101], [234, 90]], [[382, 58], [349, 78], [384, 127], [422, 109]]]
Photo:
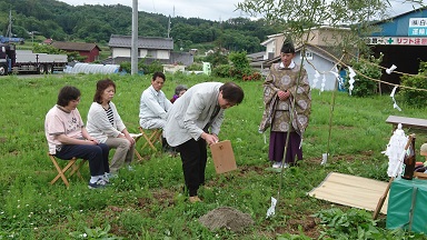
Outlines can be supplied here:
[[[419, 63], [417, 76], [403, 76], [400, 80], [401, 86], [416, 89], [427, 89], [427, 62]], [[404, 101], [409, 106], [417, 108], [424, 108], [426, 106], [427, 91], [401, 88], [399, 94], [404, 97]]]

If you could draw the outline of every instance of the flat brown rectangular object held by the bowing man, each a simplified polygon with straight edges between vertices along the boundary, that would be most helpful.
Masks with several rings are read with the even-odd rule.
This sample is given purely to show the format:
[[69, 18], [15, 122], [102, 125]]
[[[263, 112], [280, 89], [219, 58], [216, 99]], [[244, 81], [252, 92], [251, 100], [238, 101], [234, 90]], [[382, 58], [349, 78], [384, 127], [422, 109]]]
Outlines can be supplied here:
[[224, 173], [237, 169], [235, 153], [230, 140], [220, 141], [210, 146], [215, 170]]

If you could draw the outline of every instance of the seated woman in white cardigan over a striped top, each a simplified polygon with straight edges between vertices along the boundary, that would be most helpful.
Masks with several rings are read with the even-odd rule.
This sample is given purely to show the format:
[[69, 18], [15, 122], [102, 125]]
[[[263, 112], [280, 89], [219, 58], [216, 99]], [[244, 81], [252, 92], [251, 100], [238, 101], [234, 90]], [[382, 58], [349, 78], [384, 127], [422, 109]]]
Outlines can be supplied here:
[[111, 159], [111, 172], [117, 173], [123, 166], [133, 160], [135, 139], [129, 136], [119, 112], [112, 103], [116, 93], [116, 84], [110, 79], [99, 80], [95, 92], [93, 102], [88, 113], [87, 128], [89, 134], [99, 142], [116, 149]]

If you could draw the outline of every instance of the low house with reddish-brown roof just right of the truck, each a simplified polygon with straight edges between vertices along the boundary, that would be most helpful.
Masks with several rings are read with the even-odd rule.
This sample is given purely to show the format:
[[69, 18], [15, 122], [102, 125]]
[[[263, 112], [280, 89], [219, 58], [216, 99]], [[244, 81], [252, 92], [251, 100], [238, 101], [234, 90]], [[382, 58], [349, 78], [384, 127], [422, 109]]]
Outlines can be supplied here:
[[98, 60], [99, 52], [101, 51], [96, 43], [53, 41], [51, 46], [67, 52], [77, 51], [81, 57], [87, 57], [85, 62]]

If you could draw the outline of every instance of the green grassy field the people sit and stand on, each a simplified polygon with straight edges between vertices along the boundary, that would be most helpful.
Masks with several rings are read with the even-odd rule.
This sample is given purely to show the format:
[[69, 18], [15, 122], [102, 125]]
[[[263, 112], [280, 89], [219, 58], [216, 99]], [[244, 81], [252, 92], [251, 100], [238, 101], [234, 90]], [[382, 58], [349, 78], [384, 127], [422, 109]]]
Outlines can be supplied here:
[[[280, 173], [266, 170], [268, 141], [257, 131], [264, 110], [261, 82], [238, 82], [246, 98], [240, 106], [226, 111], [219, 136], [232, 142], [238, 170], [216, 174], [209, 159], [209, 188], [200, 190], [202, 203], [190, 204], [181, 194], [180, 159], [149, 150], [142, 152], [143, 161], [133, 162], [136, 171], [120, 171], [113, 184], [102, 191], [87, 188], [87, 166], [82, 169], [85, 181], [71, 178], [69, 189], [60, 181], [50, 186], [56, 170], [47, 157], [43, 132], [47, 111], [56, 103], [58, 90], [72, 84], [82, 92], [79, 111], [86, 121], [96, 82], [107, 77], [117, 83], [113, 102], [121, 118], [130, 132], [138, 132], [139, 98], [150, 84], [148, 76], [0, 78], [0, 239], [79, 239], [83, 234], [92, 239], [107, 236], [111, 239], [319, 238], [325, 226], [312, 214], [334, 208], [344, 212], [352, 209], [306, 193], [332, 171], [387, 181], [388, 159], [380, 152], [388, 143], [391, 126], [385, 120], [389, 114], [427, 119], [425, 109], [411, 109], [399, 102], [399, 98], [403, 112], [393, 109], [388, 96], [354, 98], [346, 92], [336, 93], [331, 108], [332, 92], [314, 90], [310, 124], [304, 140], [305, 160], [284, 172], [276, 216], [269, 219], [266, 212], [270, 197], [277, 197]], [[167, 76], [163, 91], [171, 97], [179, 83], [190, 87], [203, 81], [226, 80]], [[424, 142], [426, 137], [417, 133], [416, 148]], [[320, 166], [328, 146], [330, 159], [328, 164]], [[417, 158], [423, 161], [420, 156]], [[226, 206], [249, 213], [255, 224], [237, 233], [226, 229], [211, 232], [198, 222], [199, 217]], [[370, 216], [370, 212], [360, 214]], [[385, 216], [376, 223], [383, 239], [396, 237], [396, 232], [385, 230]], [[399, 234], [403, 239], [413, 236]]]

